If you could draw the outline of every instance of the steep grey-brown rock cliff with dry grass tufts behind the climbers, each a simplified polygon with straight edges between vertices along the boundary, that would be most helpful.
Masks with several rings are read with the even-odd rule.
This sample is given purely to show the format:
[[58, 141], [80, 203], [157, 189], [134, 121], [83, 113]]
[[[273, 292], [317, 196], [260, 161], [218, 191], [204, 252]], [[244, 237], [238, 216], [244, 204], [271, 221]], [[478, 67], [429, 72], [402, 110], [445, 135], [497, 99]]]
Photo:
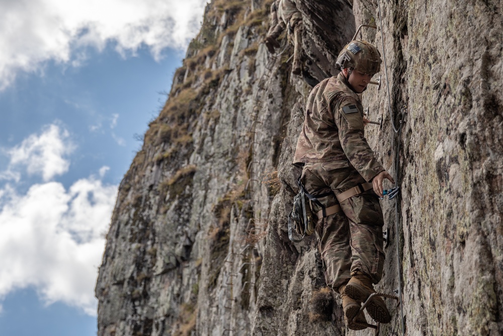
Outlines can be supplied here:
[[274, 56], [261, 43], [271, 2], [207, 6], [119, 188], [98, 335], [374, 334], [346, 330], [316, 238], [291, 243], [286, 226], [305, 100], [360, 24], [386, 58], [362, 97], [382, 120], [366, 137], [401, 190], [381, 201], [377, 288], [402, 293], [381, 334], [502, 334], [501, 3], [297, 0], [291, 76], [286, 35]]

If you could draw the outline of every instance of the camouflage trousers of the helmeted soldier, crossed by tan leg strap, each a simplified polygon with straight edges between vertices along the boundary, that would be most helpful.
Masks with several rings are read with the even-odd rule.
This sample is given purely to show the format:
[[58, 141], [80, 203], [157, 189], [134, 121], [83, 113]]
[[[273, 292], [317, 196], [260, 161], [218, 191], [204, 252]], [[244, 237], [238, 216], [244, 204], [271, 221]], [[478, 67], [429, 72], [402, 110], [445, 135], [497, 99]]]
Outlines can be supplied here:
[[[307, 163], [301, 180], [306, 191], [320, 197], [324, 207], [337, 204], [336, 195], [366, 181], [347, 161]], [[343, 211], [320, 218], [316, 236], [323, 260], [326, 284], [333, 290], [345, 285], [357, 271], [376, 284], [384, 266], [382, 226], [384, 224], [379, 198], [372, 189], [343, 200]], [[321, 210], [314, 203], [314, 211]]]

